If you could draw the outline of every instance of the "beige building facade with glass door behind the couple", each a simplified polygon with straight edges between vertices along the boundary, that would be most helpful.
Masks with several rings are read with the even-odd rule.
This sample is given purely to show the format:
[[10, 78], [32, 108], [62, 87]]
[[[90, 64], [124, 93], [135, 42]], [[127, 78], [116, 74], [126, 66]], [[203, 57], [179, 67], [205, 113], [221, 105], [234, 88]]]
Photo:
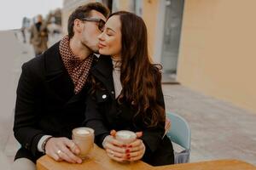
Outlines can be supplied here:
[[[64, 0], [63, 26], [73, 8]], [[102, 0], [142, 16], [149, 54], [183, 86], [256, 113], [255, 0]], [[111, 4], [111, 5], [109, 5]], [[66, 19], [65, 19], [66, 18]]]

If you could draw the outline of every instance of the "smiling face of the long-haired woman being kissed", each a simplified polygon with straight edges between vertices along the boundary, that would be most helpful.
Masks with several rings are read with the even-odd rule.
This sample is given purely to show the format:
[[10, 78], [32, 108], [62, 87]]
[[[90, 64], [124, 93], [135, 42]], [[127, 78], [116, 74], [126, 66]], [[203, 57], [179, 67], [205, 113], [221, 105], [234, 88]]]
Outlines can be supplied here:
[[113, 15], [108, 19], [104, 31], [99, 38], [99, 53], [111, 55], [114, 59], [120, 59], [121, 54], [121, 22], [119, 15]]

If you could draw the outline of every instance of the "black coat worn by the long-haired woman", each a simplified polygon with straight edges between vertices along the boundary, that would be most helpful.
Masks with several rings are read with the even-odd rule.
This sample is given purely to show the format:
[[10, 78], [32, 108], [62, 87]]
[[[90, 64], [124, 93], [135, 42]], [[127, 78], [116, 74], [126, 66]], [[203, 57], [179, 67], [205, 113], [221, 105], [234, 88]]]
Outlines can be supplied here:
[[[104, 88], [97, 88], [94, 94], [89, 94], [86, 100], [85, 123], [87, 127], [95, 129], [96, 144], [102, 147], [103, 139], [110, 130], [131, 130], [133, 132], [143, 131], [143, 143], [146, 152], [143, 161], [151, 165], [166, 165], [173, 163], [173, 150], [170, 139], [165, 133], [165, 123], [158, 124], [157, 127], [148, 128], [143, 125], [142, 119], [137, 117], [132, 122], [135, 111], [127, 102], [119, 105], [115, 99], [113, 87], [113, 65], [108, 56], [101, 56], [95, 67], [91, 69], [91, 74], [97, 82], [101, 82]], [[164, 98], [159, 83], [157, 102], [165, 107]]]

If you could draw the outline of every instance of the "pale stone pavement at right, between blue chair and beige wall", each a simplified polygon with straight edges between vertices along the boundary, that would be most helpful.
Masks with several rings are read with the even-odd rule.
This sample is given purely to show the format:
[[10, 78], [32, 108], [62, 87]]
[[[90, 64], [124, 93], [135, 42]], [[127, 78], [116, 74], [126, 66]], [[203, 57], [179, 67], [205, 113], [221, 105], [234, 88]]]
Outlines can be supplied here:
[[166, 111], [191, 127], [190, 161], [233, 158], [256, 165], [256, 113], [180, 85], [163, 85]]

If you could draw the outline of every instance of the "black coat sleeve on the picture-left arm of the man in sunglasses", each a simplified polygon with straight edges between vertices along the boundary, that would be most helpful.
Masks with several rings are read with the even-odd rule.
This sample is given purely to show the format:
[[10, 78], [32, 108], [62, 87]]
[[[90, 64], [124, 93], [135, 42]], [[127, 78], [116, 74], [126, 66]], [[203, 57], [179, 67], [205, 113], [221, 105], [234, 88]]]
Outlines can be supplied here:
[[32, 155], [38, 153], [38, 141], [45, 134], [37, 128], [37, 90], [38, 77], [35, 77], [27, 64], [22, 65], [22, 72], [16, 91], [15, 138]]

